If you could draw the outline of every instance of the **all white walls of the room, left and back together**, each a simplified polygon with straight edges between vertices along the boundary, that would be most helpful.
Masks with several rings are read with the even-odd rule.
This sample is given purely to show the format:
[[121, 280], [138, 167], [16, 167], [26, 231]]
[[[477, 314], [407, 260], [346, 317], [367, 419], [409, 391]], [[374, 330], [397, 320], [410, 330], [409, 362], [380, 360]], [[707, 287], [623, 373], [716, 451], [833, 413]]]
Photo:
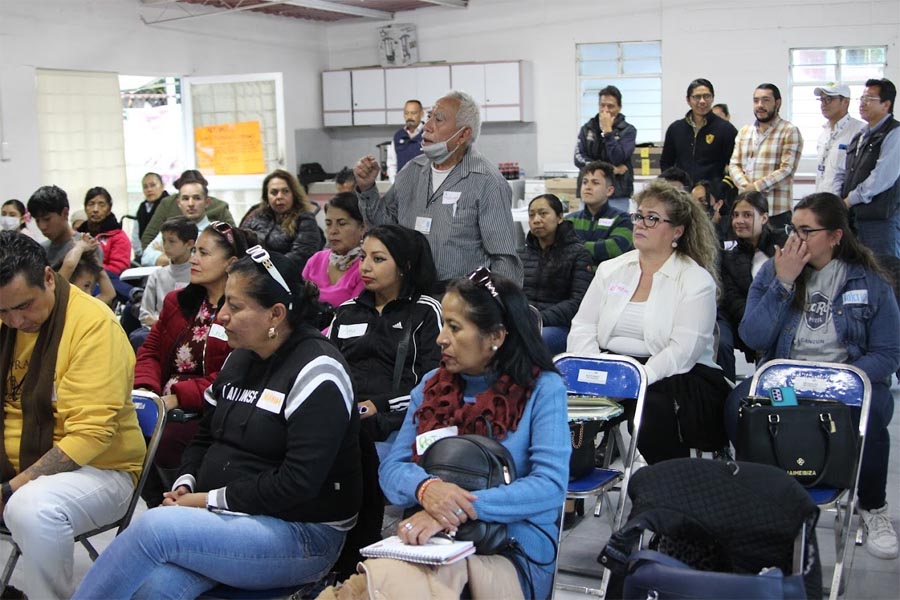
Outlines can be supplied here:
[[[0, 196], [27, 199], [45, 183], [39, 181], [36, 68], [176, 76], [281, 71], [287, 164], [327, 156], [339, 167], [344, 157], [358, 155], [360, 144], [349, 133], [298, 136], [300, 148], [291, 134], [321, 128], [320, 71], [377, 63], [376, 30], [384, 23], [323, 25], [247, 12], [156, 26], [139, 19], [160, 11], [139, 0], [0, 1], [0, 123], [10, 159], [0, 162]], [[166, 16], [179, 11], [170, 7]], [[396, 21], [417, 25], [423, 62], [531, 61], [536, 125], [515, 133], [534, 137], [529, 160], [536, 156], [539, 168], [572, 159], [580, 125], [577, 43], [661, 39], [664, 125], [686, 110], [684, 89], [695, 77], [713, 81], [735, 123], [748, 122], [756, 84], [787, 89], [791, 47], [887, 44], [886, 76], [900, 83], [896, 0], [471, 0], [465, 10], [422, 9], [398, 13]], [[372, 137], [359, 132], [360, 139]], [[306, 139], [317, 147], [304, 147]]]

